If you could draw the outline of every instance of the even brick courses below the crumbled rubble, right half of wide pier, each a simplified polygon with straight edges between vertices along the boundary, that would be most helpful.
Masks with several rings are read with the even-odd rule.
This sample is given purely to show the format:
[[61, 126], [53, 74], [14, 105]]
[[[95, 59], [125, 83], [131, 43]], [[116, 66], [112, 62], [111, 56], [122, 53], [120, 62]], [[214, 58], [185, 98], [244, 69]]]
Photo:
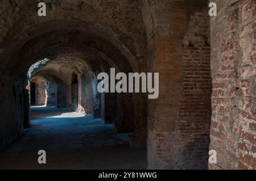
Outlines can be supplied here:
[[[183, 154], [181, 164], [205, 169], [208, 163], [210, 128], [209, 47], [184, 47], [183, 99], [177, 106], [177, 147]], [[193, 160], [193, 161], [191, 161]]]

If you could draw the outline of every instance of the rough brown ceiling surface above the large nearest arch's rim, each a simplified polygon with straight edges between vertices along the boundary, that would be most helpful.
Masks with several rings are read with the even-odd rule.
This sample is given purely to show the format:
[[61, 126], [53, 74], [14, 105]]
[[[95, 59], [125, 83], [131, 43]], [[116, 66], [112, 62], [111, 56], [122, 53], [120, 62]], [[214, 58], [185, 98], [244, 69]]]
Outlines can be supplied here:
[[[76, 2], [58, 0], [47, 3], [47, 17], [38, 16], [38, 2], [24, 0], [22, 2], [13, 2], [13, 5], [8, 5], [9, 2], [2, 2], [2, 6], [5, 5], [9, 10], [15, 9], [16, 13], [5, 11], [5, 14], [10, 17], [10, 19], [5, 19], [5, 22], [10, 26], [2, 28], [5, 31], [0, 35], [0, 41], [1, 39], [7, 39], [9, 35], [16, 36], [24, 30], [34, 28], [34, 25], [69, 19], [89, 23], [98, 29], [112, 33], [112, 35], [122, 40], [127, 48], [133, 49], [133, 52], [139, 52], [138, 50], [142, 49], [138, 48], [142, 46], [138, 42], [143, 41], [146, 36], [144, 36], [145, 27], [141, 12], [138, 10], [137, 1], [85, 2], [79, 0]], [[19, 7], [22, 7], [22, 10]], [[15, 29], [19, 31], [15, 31]], [[124, 36], [129, 37], [131, 40], [125, 40]], [[133, 48], [131, 48], [131, 42], [135, 44]]]

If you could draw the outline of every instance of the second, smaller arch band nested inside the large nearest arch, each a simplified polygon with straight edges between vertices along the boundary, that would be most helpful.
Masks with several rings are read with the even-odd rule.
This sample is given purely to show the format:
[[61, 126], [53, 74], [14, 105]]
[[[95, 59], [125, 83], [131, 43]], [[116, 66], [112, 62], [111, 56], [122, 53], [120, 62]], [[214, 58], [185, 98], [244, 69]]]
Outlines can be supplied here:
[[[56, 60], [56, 58], [58, 58], [58, 60], [60, 60], [61, 57], [69, 62], [69, 64], [73, 64], [73, 68], [75, 66], [74, 62], [76, 61], [78, 63], [77, 65], [79, 66], [76, 66], [77, 68], [74, 70], [77, 74], [82, 73], [81, 66], [94, 72], [101, 71], [101, 61], [106, 61], [110, 66], [116, 68], [117, 70], [125, 69], [123, 67], [125, 64], [121, 64], [121, 67], [117, 66], [112, 59], [99, 50], [88, 48], [85, 45], [73, 43], [56, 44], [40, 50], [35, 48], [35, 52], [28, 53], [28, 55], [23, 55], [22, 57], [30, 57], [20, 60], [22, 65], [20, 65], [19, 69], [20, 72], [23, 73], [27, 71], [29, 65], [37, 62], [38, 60], [43, 60], [44, 58], [48, 58], [50, 60]], [[72, 63], [71, 61], [74, 62]], [[15, 64], [9, 65], [9, 68], [11, 69], [12, 66], [15, 66]]]

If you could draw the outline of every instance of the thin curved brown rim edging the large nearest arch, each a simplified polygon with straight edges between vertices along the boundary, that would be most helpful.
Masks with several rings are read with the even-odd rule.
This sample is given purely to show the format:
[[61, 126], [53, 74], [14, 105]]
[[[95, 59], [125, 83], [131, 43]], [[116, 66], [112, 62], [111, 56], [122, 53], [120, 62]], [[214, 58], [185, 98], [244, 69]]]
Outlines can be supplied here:
[[[31, 20], [33, 18], [36, 18], [38, 20], [37, 16], [29, 19]], [[112, 31], [109, 30], [109, 28], [105, 29], [105, 30], [109, 30], [109, 32], [106, 32], [106, 31], [100, 30], [99, 27], [102, 28], [100, 24], [92, 24], [92, 23], [88, 23], [86, 21], [84, 22], [82, 20], [77, 20], [77, 19], [73, 19], [73, 20], [72, 19], [67, 20], [66, 18], [58, 19], [54, 15], [49, 15], [49, 17], [47, 19], [44, 19], [43, 22], [39, 21], [39, 22], [34, 22], [34, 24], [31, 23], [30, 25], [27, 25], [26, 23], [30, 20], [27, 19], [27, 20], [24, 20], [25, 23], [23, 21], [19, 23], [19, 24], [22, 24], [22, 27], [25, 27], [27, 29], [25, 30], [23, 29], [22, 31], [19, 31], [19, 32], [13, 32], [13, 36], [6, 35], [6, 37], [2, 37], [3, 39], [2, 45], [6, 45], [10, 41], [12, 42], [11, 45], [13, 45], [13, 47], [11, 45], [5, 46], [5, 47], [8, 47], [9, 50], [5, 48], [5, 55], [1, 54], [3, 57], [6, 57], [6, 59], [8, 59], [7, 57], [10, 56], [11, 49], [13, 49], [14, 47], [15, 48], [22, 47], [28, 40], [31, 40], [36, 36], [51, 33], [52, 31], [56, 31], [56, 30], [71, 30], [71, 29], [76, 30], [77, 29], [77, 30], [82, 30], [87, 32], [94, 32], [94, 34], [108, 40], [111, 44], [113, 44], [115, 47], [119, 49], [119, 52], [121, 52], [127, 58], [127, 60], [130, 62], [130, 65], [133, 67], [133, 70], [138, 71], [138, 65], [136, 60], [137, 54], [135, 54], [134, 52], [133, 54], [130, 53], [129, 48], [126, 48], [126, 46], [123, 45], [123, 43], [117, 38], [117, 35], [114, 35]], [[19, 24], [17, 24], [16, 26], [19, 26]], [[58, 26], [56, 26], [56, 24]], [[13, 39], [13, 37], [15, 37], [15, 39]], [[139, 40], [141, 40], [142, 37], [143, 36], [140, 36]], [[134, 37], [132, 37], [131, 39], [133, 38]], [[142, 43], [138, 44], [138, 46], [141, 46], [141, 45], [143, 44]], [[133, 47], [133, 49], [135, 48]], [[142, 48], [137, 48], [137, 49], [142, 49]], [[141, 54], [142, 53], [139, 53], [138, 56], [141, 56]]]

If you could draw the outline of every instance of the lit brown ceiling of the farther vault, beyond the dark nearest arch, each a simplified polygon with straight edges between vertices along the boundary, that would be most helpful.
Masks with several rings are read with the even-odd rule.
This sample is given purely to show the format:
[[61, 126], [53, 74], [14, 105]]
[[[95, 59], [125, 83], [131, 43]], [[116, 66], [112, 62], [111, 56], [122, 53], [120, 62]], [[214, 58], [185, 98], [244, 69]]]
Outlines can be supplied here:
[[32, 58], [27, 60], [27, 64], [24, 66], [24, 70], [27, 70], [29, 62], [37, 62], [39, 60], [44, 60], [47, 58], [49, 62], [43, 66], [45, 68], [58, 68], [58, 69], [68, 69], [80, 75], [85, 71], [100, 71], [100, 61], [99, 57], [95, 51], [88, 49], [87, 47], [81, 47], [77, 44], [58, 44], [46, 49], [41, 50], [42, 53], [35, 53]]

